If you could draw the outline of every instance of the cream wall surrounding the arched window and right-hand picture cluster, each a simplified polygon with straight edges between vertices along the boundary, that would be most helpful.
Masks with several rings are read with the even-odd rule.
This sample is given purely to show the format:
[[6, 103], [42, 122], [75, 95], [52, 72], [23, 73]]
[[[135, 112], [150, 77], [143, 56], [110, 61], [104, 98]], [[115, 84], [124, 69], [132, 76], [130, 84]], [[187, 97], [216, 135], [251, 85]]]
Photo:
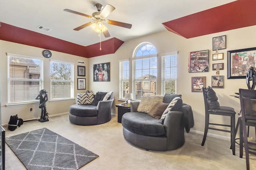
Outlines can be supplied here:
[[[198, 28], [200, 29], [200, 28]], [[113, 90], [115, 103], [118, 103], [119, 93], [119, 68], [118, 60], [132, 57], [132, 53], [136, 46], [142, 42], [151, 42], [156, 46], [159, 53], [178, 51], [178, 81], [177, 93], [182, 94], [184, 103], [191, 105], [194, 113], [195, 126], [193, 130], [204, 131], [204, 99], [203, 94], [199, 92], [191, 92], [191, 77], [206, 76], [206, 86], [211, 86], [211, 77], [216, 75], [216, 71], [212, 71], [213, 63], [224, 63], [224, 70], [220, 70], [220, 75], [224, 75], [224, 89], [214, 89], [216, 91], [220, 105], [233, 107], [236, 113], [240, 112], [240, 101], [238, 98], [231, 97], [239, 88], [247, 88], [245, 79], [227, 79], [227, 51], [234, 49], [244, 49], [255, 47], [254, 40], [256, 26], [220, 32], [206, 36], [186, 39], [171, 32], [165, 31], [158, 34], [152, 34], [125, 42], [114, 54], [93, 57], [89, 59], [89, 70], [92, 70], [92, 65], [102, 62], [110, 62], [110, 82], [93, 82], [90, 77], [90, 89], [94, 92], [104, 89], [105, 91]], [[212, 61], [212, 38], [226, 35], [226, 49], [218, 50], [219, 53], [224, 53], [223, 60]], [[104, 46], [102, 47], [104, 48]], [[189, 52], [209, 50], [209, 72], [188, 73], [188, 58]], [[91, 75], [91, 74], [90, 74]], [[160, 85], [157, 93], [160, 95]], [[116, 112], [117, 113], [117, 112]], [[237, 121], [238, 116], [236, 116]], [[230, 123], [230, 119], [226, 117], [212, 117], [213, 121], [218, 123]], [[251, 130], [252, 132], [254, 130]], [[229, 136], [229, 133], [209, 130], [209, 133]], [[254, 135], [254, 134], [253, 134]], [[255, 136], [255, 135], [254, 135]]]

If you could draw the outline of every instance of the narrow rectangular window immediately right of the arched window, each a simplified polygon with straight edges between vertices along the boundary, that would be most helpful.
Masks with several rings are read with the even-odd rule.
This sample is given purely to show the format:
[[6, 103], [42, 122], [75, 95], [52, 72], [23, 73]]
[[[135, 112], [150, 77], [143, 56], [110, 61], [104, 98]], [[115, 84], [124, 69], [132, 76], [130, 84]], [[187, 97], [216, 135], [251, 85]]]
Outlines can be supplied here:
[[162, 95], [176, 94], [177, 53], [162, 55]]

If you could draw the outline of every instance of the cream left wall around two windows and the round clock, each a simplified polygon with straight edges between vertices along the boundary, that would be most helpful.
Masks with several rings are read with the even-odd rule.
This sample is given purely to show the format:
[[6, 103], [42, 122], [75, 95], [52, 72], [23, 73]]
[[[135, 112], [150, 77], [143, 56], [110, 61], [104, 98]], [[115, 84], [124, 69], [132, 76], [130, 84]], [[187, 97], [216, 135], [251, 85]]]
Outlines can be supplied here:
[[[6, 107], [7, 104], [7, 53], [14, 53], [19, 55], [34, 56], [40, 58], [44, 61], [44, 89], [48, 92], [49, 101], [46, 103], [47, 112], [52, 115], [58, 115], [66, 113], [69, 111], [70, 105], [75, 103], [75, 99], [68, 101], [50, 101], [50, 59], [58, 61], [67, 61], [74, 63], [74, 94], [84, 93], [86, 90], [77, 90], [77, 65], [78, 60], [84, 61], [86, 66], [86, 88], [88, 88], [88, 59], [84, 57], [78, 57], [75, 55], [60, 53], [57, 51], [52, 51], [52, 57], [46, 59], [42, 56], [42, 51], [44, 49], [38, 47], [32, 47], [28, 45], [22, 45], [18, 43], [6, 42], [0, 40], [0, 82], [1, 82], [1, 115], [2, 124], [9, 122], [11, 115], [18, 115], [19, 118], [24, 120], [40, 118], [41, 109], [39, 109], [39, 104], [22, 105], [15, 107]], [[83, 78], [83, 77], [79, 77]], [[38, 91], [39, 93], [39, 91]], [[36, 96], [35, 96], [36, 98]], [[39, 101], [38, 101], [39, 103]], [[29, 112], [29, 108], [32, 107], [33, 111]]]

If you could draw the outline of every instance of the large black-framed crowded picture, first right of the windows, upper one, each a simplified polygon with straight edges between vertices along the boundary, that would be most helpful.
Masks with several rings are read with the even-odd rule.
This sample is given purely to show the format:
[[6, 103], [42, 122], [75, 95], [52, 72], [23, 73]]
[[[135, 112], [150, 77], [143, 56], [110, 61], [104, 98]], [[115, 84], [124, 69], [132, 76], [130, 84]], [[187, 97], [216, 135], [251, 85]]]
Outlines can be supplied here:
[[209, 71], [209, 50], [190, 52], [189, 73]]

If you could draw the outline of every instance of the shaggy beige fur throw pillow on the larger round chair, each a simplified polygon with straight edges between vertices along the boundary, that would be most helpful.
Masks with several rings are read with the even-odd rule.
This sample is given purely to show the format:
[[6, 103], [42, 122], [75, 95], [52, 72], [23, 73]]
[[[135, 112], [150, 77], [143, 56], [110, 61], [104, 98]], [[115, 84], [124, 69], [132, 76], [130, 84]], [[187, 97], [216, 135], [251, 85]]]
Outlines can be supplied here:
[[138, 106], [138, 112], [149, 113], [157, 102], [163, 102], [164, 96], [161, 95], [143, 95]]

